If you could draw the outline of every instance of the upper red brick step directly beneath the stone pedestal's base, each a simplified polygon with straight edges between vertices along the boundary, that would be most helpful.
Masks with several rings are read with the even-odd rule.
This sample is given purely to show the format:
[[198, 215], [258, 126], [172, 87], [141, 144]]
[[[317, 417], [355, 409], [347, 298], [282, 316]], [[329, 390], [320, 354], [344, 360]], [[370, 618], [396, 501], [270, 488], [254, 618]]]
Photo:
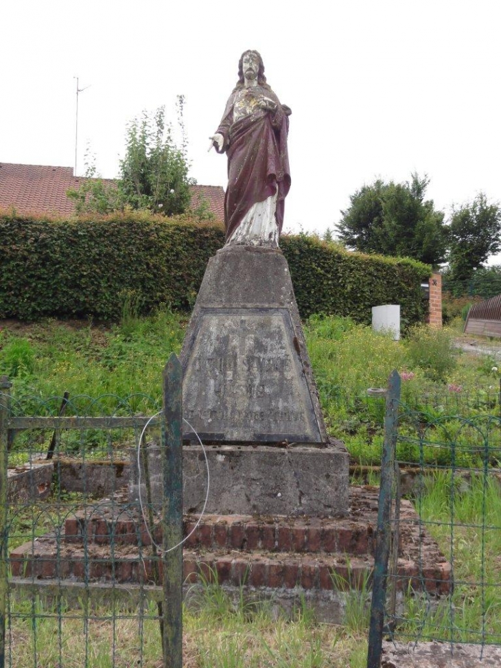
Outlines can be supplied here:
[[[371, 521], [343, 518], [255, 518], [250, 515], [185, 516], [184, 535], [191, 533], [186, 548], [203, 550], [245, 550], [297, 553], [346, 553], [372, 555], [374, 529]], [[155, 542], [161, 544], [161, 527], [155, 522]], [[130, 512], [113, 513], [97, 507], [78, 511], [65, 521], [67, 542], [100, 545], [151, 544], [145, 522]]]

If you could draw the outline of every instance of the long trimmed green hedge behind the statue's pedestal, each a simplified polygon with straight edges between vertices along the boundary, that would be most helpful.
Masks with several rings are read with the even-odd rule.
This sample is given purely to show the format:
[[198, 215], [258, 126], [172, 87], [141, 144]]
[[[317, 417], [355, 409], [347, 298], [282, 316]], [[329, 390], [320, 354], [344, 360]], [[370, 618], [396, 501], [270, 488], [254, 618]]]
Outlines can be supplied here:
[[[0, 317], [117, 319], [124, 303], [148, 312], [189, 310], [222, 227], [180, 216], [121, 214], [101, 220], [0, 215]], [[430, 268], [412, 260], [348, 253], [305, 235], [284, 236], [303, 317], [350, 315], [371, 321], [371, 306], [399, 303], [404, 323], [423, 321], [420, 284]]]

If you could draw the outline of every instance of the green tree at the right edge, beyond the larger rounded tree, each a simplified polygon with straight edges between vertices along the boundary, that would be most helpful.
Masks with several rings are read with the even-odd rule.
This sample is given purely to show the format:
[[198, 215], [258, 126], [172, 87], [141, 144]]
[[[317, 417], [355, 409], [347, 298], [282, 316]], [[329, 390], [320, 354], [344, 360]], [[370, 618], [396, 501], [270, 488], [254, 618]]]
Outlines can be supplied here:
[[489, 255], [501, 251], [501, 208], [484, 193], [453, 209], [448, 229], [450, 269], [456, 281], [471, 279]]

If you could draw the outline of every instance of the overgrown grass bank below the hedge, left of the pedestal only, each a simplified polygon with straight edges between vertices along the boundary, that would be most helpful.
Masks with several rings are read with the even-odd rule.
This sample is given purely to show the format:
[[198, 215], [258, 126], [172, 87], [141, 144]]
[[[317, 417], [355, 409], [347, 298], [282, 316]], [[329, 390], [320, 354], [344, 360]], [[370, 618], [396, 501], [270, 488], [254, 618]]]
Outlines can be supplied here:
[[0, 373], [14, 380], [19, 398], [60, 397], [65, 391], [70, 397], [145, 393], [159, 398], [163, 366], [171, 352], [179, 352], [185, 323], [163, 310], [148, 318], [128, 312], [113, 327], [49, 320], [21, 333], [3, 330]]

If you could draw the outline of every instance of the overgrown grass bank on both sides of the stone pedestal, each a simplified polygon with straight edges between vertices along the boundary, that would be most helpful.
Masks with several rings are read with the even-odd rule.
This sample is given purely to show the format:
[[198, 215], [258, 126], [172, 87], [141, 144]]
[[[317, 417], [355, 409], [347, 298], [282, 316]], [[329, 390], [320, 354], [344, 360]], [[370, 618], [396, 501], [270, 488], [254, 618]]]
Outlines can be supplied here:
[[[152, 402], [161, 400], [161, 370], [170, 353], [179, 352], [187, 319], [168, 310], [139, 317], [138, 308], [124, 302], [121, 323], [112, 327], [50, 320], [4, 327], [0, 374], [14, 380], [14, 397], [23, 402], [64, 391], [72, 399], [110, 395], [99, 408], [113, 411], [117, 396], [143, 394], [148, 398], [136, 396], [132, 409], [151, 412]], [[312, 316], [305, 336], [329, 432], [362, 463], [378, 463], [382, 448], [384, 400], [369, 398], [367, 389], [385, 387], [395, 368], [404, 404], [429, 423], [444, 415], [500, 413], [501, 363], [458, 355], [447, 330], [415, 327], [393, 341], [349, 318]], [[412, 449], [408, 455], [415, 457]]]

